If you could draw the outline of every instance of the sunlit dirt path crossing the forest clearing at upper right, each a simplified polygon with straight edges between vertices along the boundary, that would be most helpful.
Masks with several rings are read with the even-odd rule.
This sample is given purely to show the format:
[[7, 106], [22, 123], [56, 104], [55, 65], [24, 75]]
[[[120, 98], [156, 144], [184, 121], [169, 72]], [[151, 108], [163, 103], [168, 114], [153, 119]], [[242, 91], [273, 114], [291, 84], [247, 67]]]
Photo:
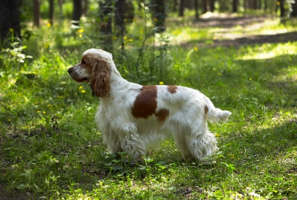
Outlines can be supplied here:
[[[219, 33], [224, 39], [214, 39], [212, 44], [204, 44], [197, 41], [199, 46], [242, 46], [251, 44], [264, 43], [287, 43], [297, 41], [297, 31], [287, 32], [286, 29], [270, 32], [267, 35], [252, 35], [252, 30], [257, 30], [265, 26], [265, 21], [270, 20], [270, 16], [235, 16], [232, 14], [219, 14], [217, 16], [202, 16], [196, 27], [213, 28], [220, 27], [223, 29]], [[232, 28], [237, 26], [247, 30], [246, 34], [230, 34]], [[195, 41], [182, 43], [181, 46], [187, 48], [193, 46]]]

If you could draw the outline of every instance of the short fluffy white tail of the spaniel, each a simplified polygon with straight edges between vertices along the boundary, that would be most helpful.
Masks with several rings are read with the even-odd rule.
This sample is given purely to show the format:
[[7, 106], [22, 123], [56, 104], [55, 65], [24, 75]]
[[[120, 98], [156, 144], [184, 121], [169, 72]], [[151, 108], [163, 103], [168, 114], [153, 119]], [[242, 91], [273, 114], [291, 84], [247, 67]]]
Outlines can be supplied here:
[[205, 97], [206, 105], [204, 106], [205, 117], [212, 123], [227, 121], [228, 117], [232, 114], [228, 110], [221, 110], [214, 107], [213, 103]]

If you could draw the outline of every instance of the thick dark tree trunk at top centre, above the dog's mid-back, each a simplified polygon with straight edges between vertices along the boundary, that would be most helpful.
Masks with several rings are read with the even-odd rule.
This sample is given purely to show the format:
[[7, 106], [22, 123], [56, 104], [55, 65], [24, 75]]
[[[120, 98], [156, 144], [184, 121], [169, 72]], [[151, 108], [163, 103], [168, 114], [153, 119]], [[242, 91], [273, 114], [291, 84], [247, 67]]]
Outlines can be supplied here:
[[157, 27], [158, 33], [162, 33], [165, 31], [165, 3], [164, 0], [153, 1], [155, 27]]

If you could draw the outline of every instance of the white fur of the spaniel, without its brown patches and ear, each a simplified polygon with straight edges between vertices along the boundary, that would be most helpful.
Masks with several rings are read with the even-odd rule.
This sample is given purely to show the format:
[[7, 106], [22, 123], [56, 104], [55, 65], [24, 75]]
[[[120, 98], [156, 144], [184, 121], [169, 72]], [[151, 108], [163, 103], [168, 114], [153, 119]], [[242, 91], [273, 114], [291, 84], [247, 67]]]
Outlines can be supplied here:
[[[156, 110], [169, 110], [165, 121], [160, 123], [155, 115], [146, 119], [135, 118], [131, 108], [143, 86], [123, 79], [110, 53], [90, 49], [83, 55], [88, 53], [96, 53], [110, 67], [109, 96], [101, 98], [95, 117], [103, 142], [107, 144], [110, 153], [126, 151], [133, 161], [138, 161], [149, 145], [159, 143], [168, 133], [173, 134], [177, 148], [185, 158], [202, 159], [217, 150], [217, 141], [207, 128], [207, 120], [214, 123], [227, 121], [231, 112], [215, 108], [212, 102], [197, 90], [177, 86], [176, 93], [171, 94], [167, 90], [168, 86], [160, 85], [156, 86]], [[78, 74], [84, 74], [77, 70], [78, 68]], [[205, 112], [205, 106], [208, 112]]]

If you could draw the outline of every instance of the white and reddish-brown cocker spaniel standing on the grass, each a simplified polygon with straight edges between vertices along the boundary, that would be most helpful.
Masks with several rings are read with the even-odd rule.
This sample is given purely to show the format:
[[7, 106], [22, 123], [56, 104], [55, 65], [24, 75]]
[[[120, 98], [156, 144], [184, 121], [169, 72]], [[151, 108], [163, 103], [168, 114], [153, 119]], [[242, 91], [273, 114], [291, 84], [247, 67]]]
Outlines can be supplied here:
[[191, 88], [128, 82], [104, 50], [86, 50], [68, 73], [77, 82], [90, 82], [100, 98], [95, 120], [109, 152], [126, 151], [133, 162], [167, 133], [173, 134], [184, 158], [202, 159], [217, 150], [207, 121], [227, 121], [231, 115]]

